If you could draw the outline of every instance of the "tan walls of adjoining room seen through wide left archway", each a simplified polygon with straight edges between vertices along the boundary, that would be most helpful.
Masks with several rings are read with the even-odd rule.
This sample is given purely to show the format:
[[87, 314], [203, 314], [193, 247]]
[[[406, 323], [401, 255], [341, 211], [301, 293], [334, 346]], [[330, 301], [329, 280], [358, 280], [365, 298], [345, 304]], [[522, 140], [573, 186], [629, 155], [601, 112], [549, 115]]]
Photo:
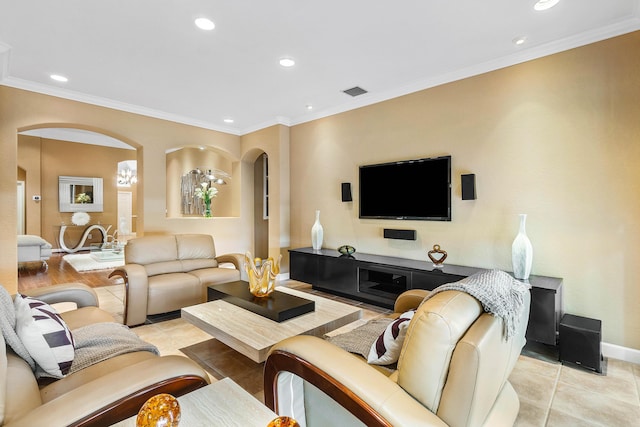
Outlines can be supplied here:
[[[27, 174], [27, 200], [26, 200], [26, 222], [27, 233], [41, 235], [46, 240], [57, 247], [57, 230], [59, 225], [67, 222], [70, 214], [58, 211], [57, 181], [59, 175], [70, 176], [98, 176], [103, 178], [105, 188], [105, 208], [101, 213], [91, 214], [92, 221], [112, 225], [110, 233], [118, 228], [118, 192], [126, 190], [132, 193], [133, 206], [132, 231], [143, 232], [143, 152], [142, 146], [136, 141], [95, 126], [87, 126], [81, 123], [69, 122], [47, 122], [17, 129], [18, 141], [18, 167], [23, 164]], [[42, 141], [46, 141], [44, 144]], [[71, 147], [69, 143], [79, 147], [78, 150], [61, 150], [57, 152], [51, 149], [50, 145], [59, 144], [61, 147]], [[46, 146], [45, 146], [46, 144]], [[120, 150], [112, 150], [113, 148]], [[24, 150], [28, 150], [25, 152]], [[106, 167], [100, 167], [100, 160], [105, 156], [103, 150], [111, 152], [121, 151], [126, 153], [131, 150], [131, 155], [116, 155], [116, 158], [108, 156], [110, 163]], [[126, 150], [126, 151], [125, 151]], [[87, 153], [95, 153], [95, 156]], [[132, 187], [123, 189], [116, 185], [117, 163], [119, 160], [136, 160], [138, 182]], [[86, 160], [91, 159], [91, 160]], [[111, 162], [113, 160], [113, 162]], [[60, 168], [60, 165], [68, 163], [70, 167]], [[113, 164], [111, 164], [113, 163]], [[52, 167], [57, 165], [57, 168]], [[98, 167], [96, 167], [98, 166]], [[54, 169], [55, 172], [47, 175], [46, 169]], [[65, 172], [68, 170], [69, 172]], [[96, 170], [101, 172], [96, 172]], [[55, 175], [55, 176], [54, 176]], [[41, 195], [40, 202], [32, 201], [32, 195]], [[58, 227], [58, 228], [56, 228]], [[79, 232], [80, 233], [80, 232]], [[73, 245], [74, 240], [79, 236], [69, 233], [67, 243]], [[97, 242], [97, 240], [96, 240]], [[89, 242], [91, 243], [91, 242]]]

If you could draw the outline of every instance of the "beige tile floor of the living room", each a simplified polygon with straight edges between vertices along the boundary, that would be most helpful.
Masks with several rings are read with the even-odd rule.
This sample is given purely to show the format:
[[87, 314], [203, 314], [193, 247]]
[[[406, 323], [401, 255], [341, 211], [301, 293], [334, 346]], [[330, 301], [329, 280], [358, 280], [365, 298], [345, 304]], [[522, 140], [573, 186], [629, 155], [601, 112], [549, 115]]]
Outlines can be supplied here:
[[[284, 284], [303, 290], [308, 288], [295, 281]], [[95, 290], [100, 306], [122, 321], [123, 286]], [[386, 312], [379, 307], [326, 296], [362, 306], [365, 321]], [[211, 339], [210, 335], [182, 319], [143, 325], [133, 330], [156, 345], [162, 354], [183, 355], [179, 348]], [[607, 359], [605, 366], [606, 375], [598, 375], [555, 361], [520, 356], [510, 377], [520, 397], [516, 426], [640, 426], [640, 365]]]

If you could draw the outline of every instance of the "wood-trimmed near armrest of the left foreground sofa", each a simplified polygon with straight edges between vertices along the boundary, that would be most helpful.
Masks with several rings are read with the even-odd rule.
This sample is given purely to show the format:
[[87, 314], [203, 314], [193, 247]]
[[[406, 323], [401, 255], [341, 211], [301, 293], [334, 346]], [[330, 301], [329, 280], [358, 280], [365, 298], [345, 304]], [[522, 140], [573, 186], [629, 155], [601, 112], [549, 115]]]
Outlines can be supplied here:
[[[81, 372], [74, 375], [82, 375]], [[12, 426], [104, 426], [138, 413], [160, 393], [181, 396], [209, 383], [208, 375], [183, 356], [163, 356], [126, 366], [32, 409]]]

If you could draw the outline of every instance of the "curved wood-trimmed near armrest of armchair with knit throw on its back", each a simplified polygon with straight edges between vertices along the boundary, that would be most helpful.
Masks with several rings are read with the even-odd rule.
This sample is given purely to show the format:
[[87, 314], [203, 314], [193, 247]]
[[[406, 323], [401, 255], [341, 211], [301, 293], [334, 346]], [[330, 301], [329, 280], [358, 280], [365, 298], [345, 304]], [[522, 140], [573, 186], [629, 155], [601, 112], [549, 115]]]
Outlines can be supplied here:
[[276, 344], [264, 366], [265, 404], [278, 412], [278, 375], [290, 372], [317, 387], [367, 426], [446, 424], [392, 379], [341, 348], [312, 336]]

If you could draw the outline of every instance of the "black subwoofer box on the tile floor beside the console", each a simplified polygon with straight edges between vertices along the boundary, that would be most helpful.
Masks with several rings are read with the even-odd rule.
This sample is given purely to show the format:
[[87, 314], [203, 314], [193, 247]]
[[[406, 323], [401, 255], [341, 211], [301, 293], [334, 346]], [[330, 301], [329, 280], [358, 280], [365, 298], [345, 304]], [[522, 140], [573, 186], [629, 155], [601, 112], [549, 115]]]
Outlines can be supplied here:
[[560, 361], [602, 373], [602, 322], [565, 314], [560, 320]]

